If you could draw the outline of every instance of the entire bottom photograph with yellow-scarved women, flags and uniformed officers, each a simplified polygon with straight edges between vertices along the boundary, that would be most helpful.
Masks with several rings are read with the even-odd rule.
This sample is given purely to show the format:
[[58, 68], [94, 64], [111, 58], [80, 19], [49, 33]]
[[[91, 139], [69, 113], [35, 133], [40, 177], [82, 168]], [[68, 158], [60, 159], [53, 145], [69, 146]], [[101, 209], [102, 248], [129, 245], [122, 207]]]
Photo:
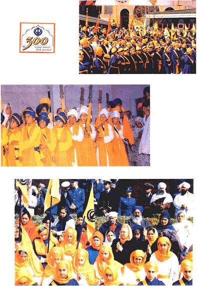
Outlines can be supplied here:
[[193, 179], [15, 179], [15, 285], [192, 285]]

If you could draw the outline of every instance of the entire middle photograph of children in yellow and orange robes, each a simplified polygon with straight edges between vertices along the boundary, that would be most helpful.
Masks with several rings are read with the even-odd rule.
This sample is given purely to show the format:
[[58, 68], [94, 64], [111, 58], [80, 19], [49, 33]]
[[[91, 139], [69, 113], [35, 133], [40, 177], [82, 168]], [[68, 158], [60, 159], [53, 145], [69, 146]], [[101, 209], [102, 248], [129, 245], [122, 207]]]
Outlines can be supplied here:
[[149, 166], [149, 85], [2, 85], [2, 166]]

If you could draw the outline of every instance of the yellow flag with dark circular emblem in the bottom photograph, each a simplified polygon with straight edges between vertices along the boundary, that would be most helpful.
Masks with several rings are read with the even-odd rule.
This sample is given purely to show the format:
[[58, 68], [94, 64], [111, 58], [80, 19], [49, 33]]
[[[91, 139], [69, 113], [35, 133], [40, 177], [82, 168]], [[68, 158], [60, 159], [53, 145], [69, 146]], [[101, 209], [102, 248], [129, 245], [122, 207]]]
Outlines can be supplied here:
[[87, 206], [83, 213], [85, 216], [84, 221], [87, 223], [87, 239], [89, 240], [93, 232], [95, 231], [95, 217], [94, 217], [94, 204], [93, 204], [93, 183], [91, 184], [91, 191]]

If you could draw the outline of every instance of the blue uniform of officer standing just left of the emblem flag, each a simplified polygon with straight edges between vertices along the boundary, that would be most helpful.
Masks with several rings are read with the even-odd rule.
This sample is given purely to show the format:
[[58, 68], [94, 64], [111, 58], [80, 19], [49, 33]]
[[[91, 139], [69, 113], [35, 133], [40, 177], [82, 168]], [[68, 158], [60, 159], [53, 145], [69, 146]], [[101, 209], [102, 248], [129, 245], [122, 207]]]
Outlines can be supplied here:
[[72, 203], [76, 205], [76, 213], [83, 211], [83, 203], [85, 202], [85, 191], [83, 188], [77, 187], [67, 191], [66, 205], [69, 207]]

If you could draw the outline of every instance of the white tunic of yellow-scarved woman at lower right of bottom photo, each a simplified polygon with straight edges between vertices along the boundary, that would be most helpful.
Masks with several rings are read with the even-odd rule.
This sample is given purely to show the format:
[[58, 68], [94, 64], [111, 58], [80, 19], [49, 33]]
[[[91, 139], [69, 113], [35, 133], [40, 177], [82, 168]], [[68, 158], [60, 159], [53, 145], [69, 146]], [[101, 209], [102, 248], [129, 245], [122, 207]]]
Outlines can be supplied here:
[[158, 264], [158, 273], [161, 275], [169, 275], [169, 278], [159, 278], [165, 285], [171, 286], [173, 282], [179, 278], [179, 263], [178, 258], [174, 253], [171, 257], [165, 261], [160, 262], [157, 260], [155, 253], [150, 256], [150, 261], [154, 261]]

